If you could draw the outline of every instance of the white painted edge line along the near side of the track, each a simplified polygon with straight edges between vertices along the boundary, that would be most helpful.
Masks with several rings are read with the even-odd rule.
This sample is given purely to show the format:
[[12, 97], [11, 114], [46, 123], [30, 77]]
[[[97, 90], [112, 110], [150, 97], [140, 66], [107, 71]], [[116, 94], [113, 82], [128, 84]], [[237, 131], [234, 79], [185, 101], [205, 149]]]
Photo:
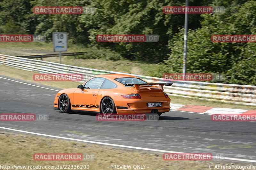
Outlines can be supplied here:
[[[60, 137], [60, 136], [46, 135], [46, 134], [42, 134], [42, 133], [35, 133], [35, 132], [29, 132], [29, 131], [21, 131], [21, 130], [1, 127], [1, 126], [0, 126], [0, 129], [10, 130], [10, 131], [18, 131], [18, 132], [22, 132], [22, 133], [29, 133], [29, 134], [40, 135], [40, 136], [47, 136], [47, 137], [52, 137], [52, 138], [61, 138], [61, 139], [67, 139], [67, 140], [75, 140], [75, 141], [79, 141], [79, 142], [87, 142], [87, 143], [100, 144], [100, 145], [117, 146], [117, 147], [124, 147], [124, 148], [130, 148], [130, 149], [140, 149], [140, 150], [155, 151], [155, 152], [184, 153], [184, 154], [186, 154], [185, 152], [175, 152], [175, 151], [167, 151], [167, 150], [160, 150], [160, 149], [142, 148], [142, 147], [128, 146], [128, 145], [117, 145], [117, 144], [109, 144], [109, 143], [95, 142], [95, 141], [75, 139], [75, 138], [66, 138], [66, 137]], [[212, 156], [212, 158], [215, 158], [215, 156]], [[229, 158], [229, 157], [225, 157], [223, 159], [245, 161], [245, 162], [254, 162], [254, 163], [256, 163], [256, 160], [251, 160], [251, 159], [239, 159], [239, 158]]]

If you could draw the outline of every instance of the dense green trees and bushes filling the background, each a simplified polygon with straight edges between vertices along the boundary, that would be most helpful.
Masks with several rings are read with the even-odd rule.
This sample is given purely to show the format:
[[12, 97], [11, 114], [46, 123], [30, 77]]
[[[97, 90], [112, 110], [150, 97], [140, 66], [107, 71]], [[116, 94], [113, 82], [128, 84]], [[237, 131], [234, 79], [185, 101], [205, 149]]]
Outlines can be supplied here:
[[[1, 0], [0, 33], [67, 31], [69, 42], [102, 49], [96, 58], [162, 63], [157, 73], [181, 73], [184, 14], [164, 14], [163, 6], [185, 0]], [[93, 6], [94, 14], [34, 14], [34, 6]], [[226, 74], [224, 83], [256, 85], [255, 43], [213, 43], [211, 35], [256, 34], [256, 0], [190, 0], [189, 6], [224, 6], [223, 14], [189, 14], [188, 73]], [[157, 34], [157, 43], [99, 43], [98, 34]], [[110, 51], [116, 54], [108, 56]]]

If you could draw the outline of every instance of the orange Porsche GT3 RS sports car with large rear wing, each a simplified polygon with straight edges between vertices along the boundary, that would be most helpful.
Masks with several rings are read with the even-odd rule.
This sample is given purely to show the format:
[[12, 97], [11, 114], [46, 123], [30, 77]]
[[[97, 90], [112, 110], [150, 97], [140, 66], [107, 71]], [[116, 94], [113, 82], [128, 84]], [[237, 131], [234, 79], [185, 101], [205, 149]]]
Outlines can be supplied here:
[[172, 83], [148, 83], [125, 74], [102, 74], [92, 77], [77, 88], [60, 90], [54, 109], [63, 113], [91, 111], [111, 114], [158, 113], [170, 110], [171, 99], [163, 86]]

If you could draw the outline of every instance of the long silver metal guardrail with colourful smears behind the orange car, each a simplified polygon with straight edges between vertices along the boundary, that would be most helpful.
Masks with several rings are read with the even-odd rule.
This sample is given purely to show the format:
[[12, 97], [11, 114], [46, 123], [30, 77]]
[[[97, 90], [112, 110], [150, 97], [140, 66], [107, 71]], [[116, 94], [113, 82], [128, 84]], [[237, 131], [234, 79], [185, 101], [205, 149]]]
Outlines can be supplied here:
[[[88, 80], [94, 75], [99, 74], [126, 74], [114, 71], [70, 66], [43, 60], [14, 57], [3, 54], [0, 54], [0, 64], [39, 73], [83, 74], [84, 81]], [[203, 100], [220, 101], [226, 103], [256, 105], [256, 86], [207, 83], [199, 81], [164, 81], [163, 78], [142, 75], [134, 76], [153, 83], [172, 82], [172, 86], [164, 86], [164, 92], [172, 96], [199, 98]]]

